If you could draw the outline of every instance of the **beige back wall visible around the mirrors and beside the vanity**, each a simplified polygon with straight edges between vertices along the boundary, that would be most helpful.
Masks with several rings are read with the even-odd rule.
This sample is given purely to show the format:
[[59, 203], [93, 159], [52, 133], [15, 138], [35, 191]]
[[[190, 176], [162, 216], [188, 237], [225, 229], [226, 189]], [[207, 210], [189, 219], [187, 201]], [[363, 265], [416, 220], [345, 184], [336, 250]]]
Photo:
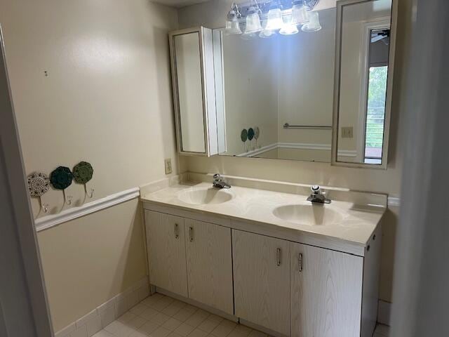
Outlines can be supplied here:
[[[180, 27], [203, 24], [220, 27], [232, 1], [213, 0], [205, 4], [181, 8], [178, 11]], [[396, 44], [395, 81], [391, 114], [389, 164], [387, 171], [375, 169], [349, 169], [330, 166], [327, 163], [286, 161], [276, 159], [233, 158], [215, 156], [211, 158], [189, 157], [187, 169], [193, 172], [220, 172], [247, 177], [286, 180], [300, 183], [319, 183], [348, 187], [351, 190], [383, 192], [398, 196], [401, 185], [401, 143], [399, 141], [399, 119], [401, 98], [406, 93], [406, 64], [408, 41], [405, 38], [410, 25], [410, 0], [398, 0], [398, 42]], [[383, 223], [382, 273], [380, 298], [391, 300], [394, 240], [397, 226], [397, 209], [390, 209]]]

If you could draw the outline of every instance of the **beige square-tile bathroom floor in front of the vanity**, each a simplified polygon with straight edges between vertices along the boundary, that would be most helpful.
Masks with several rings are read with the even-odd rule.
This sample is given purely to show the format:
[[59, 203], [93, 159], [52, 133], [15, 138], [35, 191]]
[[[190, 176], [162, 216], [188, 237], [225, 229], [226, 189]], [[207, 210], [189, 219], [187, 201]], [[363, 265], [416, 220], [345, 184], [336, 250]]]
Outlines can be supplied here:
[[[373, 337], [388, 337], [377, 326]], [[265, 333], [223, 319], [156, 293], [95, 333], [93, 337], [267, 337]]]

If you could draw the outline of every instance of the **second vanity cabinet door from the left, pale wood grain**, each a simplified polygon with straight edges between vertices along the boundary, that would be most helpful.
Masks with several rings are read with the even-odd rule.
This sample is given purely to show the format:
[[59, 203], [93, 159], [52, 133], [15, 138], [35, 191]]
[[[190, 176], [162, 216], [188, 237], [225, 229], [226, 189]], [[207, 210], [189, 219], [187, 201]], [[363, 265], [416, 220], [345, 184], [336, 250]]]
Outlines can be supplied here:
[[189, 298], [234, 314], [231, 229], [185, 219]]

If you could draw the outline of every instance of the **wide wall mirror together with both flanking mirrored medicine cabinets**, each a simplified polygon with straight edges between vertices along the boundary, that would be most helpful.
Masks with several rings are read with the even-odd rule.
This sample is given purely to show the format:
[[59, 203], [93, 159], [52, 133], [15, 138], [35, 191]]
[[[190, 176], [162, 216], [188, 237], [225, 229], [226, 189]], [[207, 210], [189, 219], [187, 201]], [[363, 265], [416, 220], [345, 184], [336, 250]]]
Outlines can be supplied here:
[[271, 2], [260, 5], [260, 32], [248, 34], [242, 15], [231, 34], [170, 33], [179, 153], [386, 169], [396, 1], [309, 8], [309, 26], [288, 34], [267, 30]]

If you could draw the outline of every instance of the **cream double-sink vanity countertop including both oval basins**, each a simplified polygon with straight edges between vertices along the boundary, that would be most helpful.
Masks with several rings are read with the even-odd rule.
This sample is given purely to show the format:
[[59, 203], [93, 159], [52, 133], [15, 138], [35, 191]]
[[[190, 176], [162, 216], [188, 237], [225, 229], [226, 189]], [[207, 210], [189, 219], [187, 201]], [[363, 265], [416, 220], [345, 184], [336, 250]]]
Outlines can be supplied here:
[[[301, 192], [305, 190], [302, 189]], [[177, 183], [156, 192], [143, 194], [144, 203], [172, 206], [288, 229], [319, 239], [332, 239], [360, 247], [368, 246], [373, 232], [387, 208], [387, 196], [329, 190], [330, 204], [312, 204], [307, 195], [275, 192], [233, 185], [217, 189], [211, 183]], [[351, 200], [352, 199], [352, 200]]]

